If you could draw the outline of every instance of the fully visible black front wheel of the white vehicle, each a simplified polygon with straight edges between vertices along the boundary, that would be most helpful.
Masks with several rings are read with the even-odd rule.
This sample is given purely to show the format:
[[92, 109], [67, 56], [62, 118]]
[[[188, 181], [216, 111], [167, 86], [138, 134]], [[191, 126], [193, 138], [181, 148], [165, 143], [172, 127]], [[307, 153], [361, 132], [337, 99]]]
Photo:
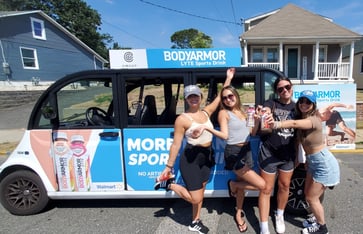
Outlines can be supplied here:
[[0, 202], [11, 214], [31, 215], [42, 211], [49, 202], [39, 176], [31, 171], [15, 171], [0, 184]]

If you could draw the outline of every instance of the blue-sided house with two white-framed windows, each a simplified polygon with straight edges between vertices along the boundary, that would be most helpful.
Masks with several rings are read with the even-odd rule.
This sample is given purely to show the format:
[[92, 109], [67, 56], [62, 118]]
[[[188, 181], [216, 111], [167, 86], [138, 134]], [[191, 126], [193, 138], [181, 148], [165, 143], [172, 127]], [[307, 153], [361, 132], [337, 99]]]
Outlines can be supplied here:
[[103, 69], [108, 61], [44, 12], [0, 12], [0, 81], [57, 79], [81, 70]]

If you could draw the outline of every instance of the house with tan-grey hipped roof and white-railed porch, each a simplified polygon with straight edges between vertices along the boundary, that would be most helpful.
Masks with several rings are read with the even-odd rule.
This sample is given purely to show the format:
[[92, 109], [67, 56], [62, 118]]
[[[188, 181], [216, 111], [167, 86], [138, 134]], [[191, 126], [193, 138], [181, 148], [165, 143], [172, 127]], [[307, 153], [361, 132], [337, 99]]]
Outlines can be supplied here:
[[[244, 24], [243, 66], [274, 68], [296, 82], [354, 82], [354, 45], [362, 38], [358, 33], [294, 4], [246, 19]], [[346, 62], [344, 46], [349, 47]]]

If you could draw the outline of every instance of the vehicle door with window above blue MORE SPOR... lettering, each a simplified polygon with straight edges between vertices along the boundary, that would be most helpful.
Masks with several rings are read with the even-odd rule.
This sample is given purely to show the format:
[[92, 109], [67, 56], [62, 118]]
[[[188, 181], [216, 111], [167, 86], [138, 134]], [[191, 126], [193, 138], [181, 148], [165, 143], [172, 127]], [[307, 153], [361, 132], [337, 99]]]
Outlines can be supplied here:
[[128, 106], [121, 113], [127, 190], [161, 193], [154, 191], [154, 183], [168, 159], [174, 121], [184, 111], [183, 88], [189, 74], [150, 70], [121, 76], [126, 93], [120, 105]]

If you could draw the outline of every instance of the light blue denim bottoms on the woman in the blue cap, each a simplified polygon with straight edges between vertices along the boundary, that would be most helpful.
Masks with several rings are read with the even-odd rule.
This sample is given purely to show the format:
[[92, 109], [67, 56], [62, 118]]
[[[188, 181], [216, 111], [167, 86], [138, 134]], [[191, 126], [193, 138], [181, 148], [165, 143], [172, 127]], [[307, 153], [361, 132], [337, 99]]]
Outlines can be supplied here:
[[308, 173], [313, 180], [325, 187], [337, 185], [340, 181], [339, 163], [334, 155], [327, 149], [306, 157]]

